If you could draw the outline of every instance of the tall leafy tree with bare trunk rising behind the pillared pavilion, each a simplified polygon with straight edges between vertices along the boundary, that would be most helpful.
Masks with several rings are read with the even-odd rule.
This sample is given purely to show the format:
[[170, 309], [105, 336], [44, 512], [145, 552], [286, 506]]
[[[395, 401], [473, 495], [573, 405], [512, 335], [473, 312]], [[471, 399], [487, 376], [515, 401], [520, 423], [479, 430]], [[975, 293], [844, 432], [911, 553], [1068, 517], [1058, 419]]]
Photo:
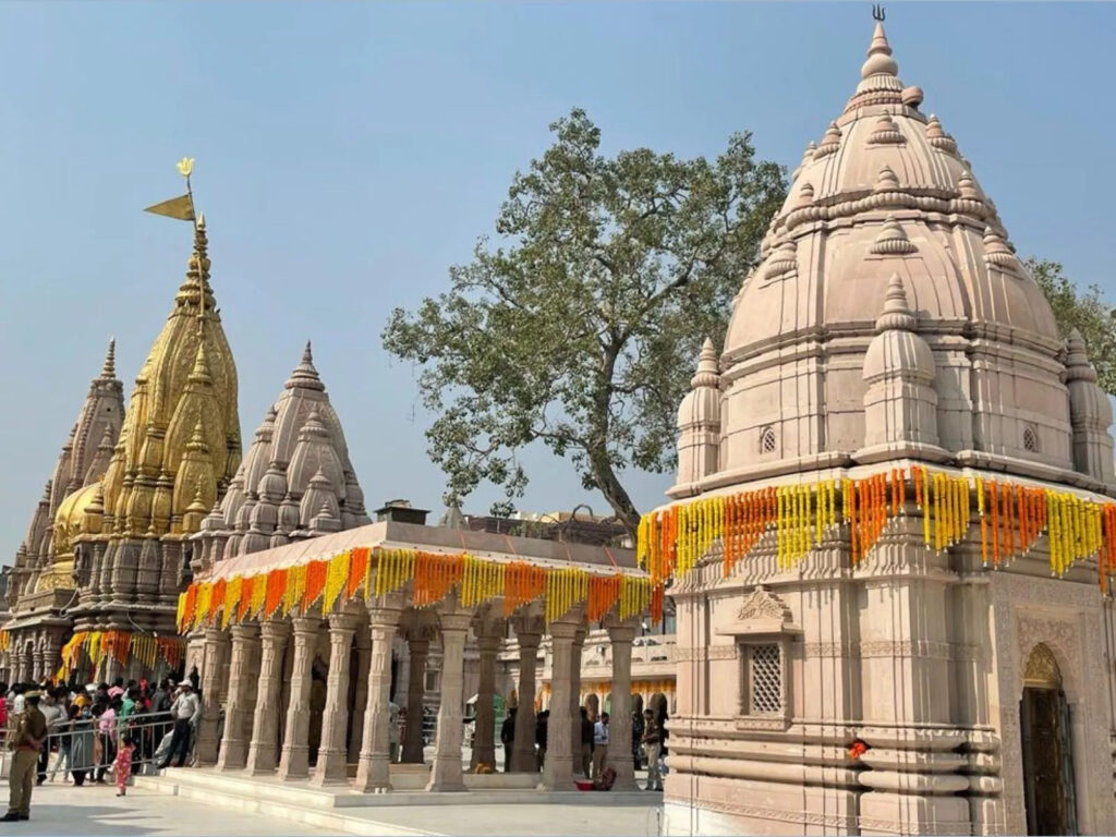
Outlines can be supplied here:
[[550, 148], [512, 180], [499, 246], [482, 238], [449, 291], [393, 311], [384, 346], [423, 367], [446, 502], [487, 480], [507, 511], [528, 480], [516, 452], [540, 441], [634, 532], [623, 471], [673, 466], [679, 402], [704, 338], [723, 339], [785, 172], [756, 160], [749, 134], [711, 163], [603, 156], [580, 109], [550, 129]]

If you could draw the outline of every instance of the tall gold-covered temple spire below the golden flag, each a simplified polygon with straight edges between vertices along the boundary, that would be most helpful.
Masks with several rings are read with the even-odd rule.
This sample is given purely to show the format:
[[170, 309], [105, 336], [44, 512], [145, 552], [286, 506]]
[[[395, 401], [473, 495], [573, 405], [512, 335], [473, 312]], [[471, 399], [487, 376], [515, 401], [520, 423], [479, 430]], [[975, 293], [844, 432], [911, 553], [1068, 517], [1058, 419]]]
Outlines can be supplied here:
[[202, 217], [105, 475], [106, 531], [190, 533], [183, 522], [195, 494], [215, 502], [240, 464], [237, 367], [209, 285], [208, 243]]

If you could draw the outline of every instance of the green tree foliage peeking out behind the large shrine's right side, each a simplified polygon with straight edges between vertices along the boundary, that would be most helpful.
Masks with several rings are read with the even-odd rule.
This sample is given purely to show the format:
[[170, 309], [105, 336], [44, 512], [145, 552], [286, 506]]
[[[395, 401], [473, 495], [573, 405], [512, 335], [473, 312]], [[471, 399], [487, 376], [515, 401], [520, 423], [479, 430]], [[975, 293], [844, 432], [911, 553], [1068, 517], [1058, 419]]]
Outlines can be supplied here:
[[1075, 328], [1081, 333], [1100, 387], [1109, 395], [1116, 394], [1116, 319], [1100, 287], [1090, 285], [1079, 291], [1057, 261], [1039, 261], [1032, 256], [1027, 269], [1050, 301], [1058, 331], [1062, 337]]

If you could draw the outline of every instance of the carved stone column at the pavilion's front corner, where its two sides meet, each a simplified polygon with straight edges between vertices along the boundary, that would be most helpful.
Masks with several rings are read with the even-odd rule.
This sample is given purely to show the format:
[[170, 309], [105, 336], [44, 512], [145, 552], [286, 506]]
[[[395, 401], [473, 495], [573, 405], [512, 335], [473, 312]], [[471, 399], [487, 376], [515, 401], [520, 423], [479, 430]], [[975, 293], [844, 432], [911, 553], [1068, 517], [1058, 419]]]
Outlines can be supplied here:
[[391, 734], [392, 716], [392, 645], [400, 623], [400, 609], [368, 609], [369, 665], [367, 673], [367, 706], [364, 711], [364, 734], [360, 760], [356, 769], [356, 790], [383, 793], [392, 789]]

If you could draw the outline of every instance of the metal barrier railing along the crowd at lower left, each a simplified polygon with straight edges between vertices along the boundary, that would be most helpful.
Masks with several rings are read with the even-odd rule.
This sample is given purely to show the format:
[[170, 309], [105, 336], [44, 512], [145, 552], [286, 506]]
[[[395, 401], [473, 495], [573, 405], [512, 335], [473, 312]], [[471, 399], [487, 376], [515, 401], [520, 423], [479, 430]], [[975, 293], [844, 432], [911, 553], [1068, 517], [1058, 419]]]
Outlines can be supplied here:
[[[4, 749], [19, 723], [18, 714], [8, 716], [8, 728], [3, 731]], [[61, 772], [64, 779], [71, 773], [75, 781], [103, 782], [116, 763], [118, 745], [123, 737], [131, 737], [132, 773], [154, 773], [158, 766], [171, 756], [170, 742], [174, 719], [170, 712], [140, 712], [127, 718], [79, 718], [66, 720], [47, 733], [39, 754], [38, 779], [56, 781]], [[193, 749], [193, 731], [189, 751]], [[10, 756], [10, 751], [6, 752]]]

